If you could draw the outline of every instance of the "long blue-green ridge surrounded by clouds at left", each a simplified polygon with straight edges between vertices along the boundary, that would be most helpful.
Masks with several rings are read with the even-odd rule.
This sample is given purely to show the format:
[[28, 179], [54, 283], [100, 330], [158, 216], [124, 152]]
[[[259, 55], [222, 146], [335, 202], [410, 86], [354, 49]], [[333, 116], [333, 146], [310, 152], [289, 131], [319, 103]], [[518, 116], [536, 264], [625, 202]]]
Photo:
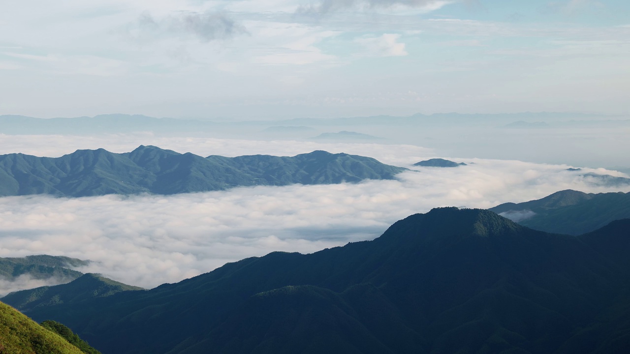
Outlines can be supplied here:
[[78, 150], [62, 157], [0, 156], [0, 196], [191, 193], [237, 186], [391, 180], [404, 168], [370, 157], [314, 151], [293, 157], [201, 157], [155, 146], [115, 154]]

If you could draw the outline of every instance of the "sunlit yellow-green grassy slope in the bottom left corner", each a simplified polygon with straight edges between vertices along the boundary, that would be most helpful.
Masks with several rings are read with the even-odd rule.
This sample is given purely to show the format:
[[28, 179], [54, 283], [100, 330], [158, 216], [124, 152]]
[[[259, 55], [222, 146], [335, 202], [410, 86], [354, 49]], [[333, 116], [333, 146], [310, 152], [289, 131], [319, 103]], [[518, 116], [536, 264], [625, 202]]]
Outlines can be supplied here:
[[1, 354], [82, 354], [59, 334], [0, 302]]

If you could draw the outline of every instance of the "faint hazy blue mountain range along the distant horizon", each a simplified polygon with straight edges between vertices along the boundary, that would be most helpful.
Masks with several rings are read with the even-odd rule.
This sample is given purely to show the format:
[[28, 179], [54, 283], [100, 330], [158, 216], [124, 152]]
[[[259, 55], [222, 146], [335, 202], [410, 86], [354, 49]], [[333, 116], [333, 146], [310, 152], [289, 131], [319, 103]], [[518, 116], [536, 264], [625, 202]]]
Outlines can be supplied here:
[[[607, 116], [617, 118], [615, 116]], [[523, 112], [503, 114], [462, 114], [435, 113], [423, 115], [416, 113], [408, 117], [379, 115], [371, 117], [345, 118], [294, 118], [290, 120], [266, 120], [249, 122], [210, 122], [207, 120], [154, 118], [144, 115], [106, 114], [95, 117], [72, 118], [33, 118], [21, 115], [0, 115], [0, 134], [113, 134], [152, 131], [173, 134], [178, 132], [210, 133], [226, 127], [243, 127], [244, 125], [275, 127], [288, 126], [365, 126], [365, 125], [479, 125], [507, 124], [515, 120], [587, 120], [597, 119], [601, 115], [584, 113]], [[573, 122], [573, 121], [572, 121]], [[620, 122], [620, 121], [609, 121]], [[577, 121], [580, 123], [580, 121]], [[581, 122], [584, 124], [584, 122]], [[627, 124], [627, 122], [626, 122]]]

